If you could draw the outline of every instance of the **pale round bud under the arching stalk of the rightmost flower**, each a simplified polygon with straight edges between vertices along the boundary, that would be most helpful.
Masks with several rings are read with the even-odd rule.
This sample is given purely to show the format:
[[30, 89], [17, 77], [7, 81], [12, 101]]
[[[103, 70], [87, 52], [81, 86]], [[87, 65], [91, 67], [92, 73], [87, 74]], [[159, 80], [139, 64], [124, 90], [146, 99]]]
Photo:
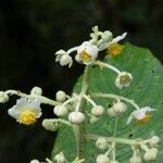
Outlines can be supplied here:
[[124, 102], [117, 102], [113, 104], [113, 111], [115, 113], [117, 113], [118, 115], [121, 115], [122, 113], [124, 113], [127, 110], [127, 106]]

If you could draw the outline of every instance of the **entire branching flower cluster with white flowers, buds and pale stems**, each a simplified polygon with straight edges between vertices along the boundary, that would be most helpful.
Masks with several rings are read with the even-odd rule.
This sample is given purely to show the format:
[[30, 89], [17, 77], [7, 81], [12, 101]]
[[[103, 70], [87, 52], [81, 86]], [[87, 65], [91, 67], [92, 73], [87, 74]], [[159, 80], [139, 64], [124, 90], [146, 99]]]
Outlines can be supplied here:
[[[123, 87], [129, 87], [133, 83], [133, 75], [128, 72], [121, 72], [117, 67], [104, 63], [98, 60], [98, 54], [101, 51], [105, 51], [111, 58], [121, 54], [123, 47], [118, 42], [126, 37], [127, 33], [113, 38], [113, 34], [110, 30], [100, 32], [98, 26], [92, 28], [90, 34], [90, 39], [84, 41], [82, 45], [73, 47], [68, 50], [59, 50], [55, 52], [55, 61], [60, 62], [61, 66], [73, 65], [74, 60], [79, 64], [86, 65], [82, 90], [79, 93], [73, 92], [72, 96], [66, 95], [64, 91], [59, 90], [55, 95], [55, 100], [49, 99], [42, 96], [42, 90], [39, 87], [34, 87], [29, 95], [23, 93], [16, 90], [0, 91], [0, 102], [5, 103], [9, 101], [10, 96], [16, 95], [20, 97], [16, 104], [9, 109], [8, 113], [20, 124], [33, 125], [36, 123], [37, 118], [41, 116], [40, 104], [49, 104], [53, 106], [53, 113], [58, 118], [46, 118], [42, 121], [42, 126], [50, 130], [55, 131], [60, 124], [67, 127], [72, 127], [74, 130], [74, 136], [76, 137], [77, 150], [82, 151], [82, 146], [79, 145], [79, 135], [76, 135], [78, 128], [89, 120], [90, 124], [95, 124], [97, 121], [103, 117], [104, 114], [117, 120], [128, 110], [128, 104], [131, 105], [133, 111], [128, 118], [126, 118], [126, 125], [130, 125], [131, 121], [139, 123], [148, 123], [151, 118], [151, 112], [155, 109], [150, 106], [139, 106], [133, 99], [128, 99], [122, 96], [113, 93], [102, 93], [96, 92], [88, 95], [89, 78], [88, 73], [92, 65], [99, 66], [101, 68], [108, 68], [113, 71], [117, 76], [115, 78], [115, 87], [123, 89]], [[71, 54], [75, 53], [74, 60]], [[110, 108], [104, 108], [96, 102], [96, 99], [113, 99], [113, 103]], [[91, 105], [90, 110], [83, 108], [83, 103]], [[115, 121], [116, 122], [116, 121]], [[79, 133], [82, 134], [82, 133]], [[116, 145], [123, 143], [129, 146], [133, 155], [129, 159], [130, 163], [141, 163], [142, 158], [145, 161], [154, 161], [158, 155], [158, 145], [160, 138], [154, 135], [150, 138], [143, 139], [124, 139], [116, 137], [116, 130], [113, 133], [112, 137], [84, 134], [85, 141], [92, 140], [95, 146], [101, 151], [96, 158], [97, 163], [118, 163], [118, 158], [116, 158]], [[48, 163], [82, 163], [85, 162], [85, 156], [83, 153], [77, 151], [77, 155], [74, 161], [68, 161], [65, 153], [61, 151], [57, 153], [51, 160], [46, 159]], [[142, 156], [143, 154], [143, 156]], [[40, 163], [38, 160], [33, 160], [30, 163]]]

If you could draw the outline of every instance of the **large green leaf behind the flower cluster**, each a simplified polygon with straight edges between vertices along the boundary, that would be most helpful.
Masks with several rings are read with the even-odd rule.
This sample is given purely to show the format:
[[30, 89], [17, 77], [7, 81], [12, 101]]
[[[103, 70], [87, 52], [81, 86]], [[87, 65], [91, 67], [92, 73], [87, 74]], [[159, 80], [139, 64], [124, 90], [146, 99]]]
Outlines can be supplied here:
[[[114, 80], [116, 74], [106, 68], [100, 70], [93, 67], [90, 72], [89, 93], [91, 92], [105, 92], [115, 93], [129, 99], [134, 99], [140, 106], [151, 106], [156, 109], [156, 112], [152, 113], [152, 118], [149, 123], [137, 124], [133, 122], [130, 125], [126, 125], [127, 117], [134, 111], [131, 105], [128, 105], [127, 112], [120, 117], [117, 125], [117, 137], [122, 138], [145, 138], [150, 137], [151, 133], [155, 133], [161, 139], [163, 139], [163, 66], [151, 54], [148, 49], [138, 48], [130, 43], [125, 43], [122, 53], [115, 58], [105, 58], [105, 61], [112, 64], [121, 71], [129, 72], [134, 76], [134, 82], [130, 87], [123, 88], [120, 91], [115, 87]], [[82, 77], [78, 79], [74, 91], [79, 92], [82, 84]], [[111, 100], [96, 100], [97, 103], [103, 104], [105, 110], [109, 104], [112, 104]], [[90, 108], [87, 108], [90, 112]], [[89, 134], [97, 134], [102, 136], [111, 136], [113, 134], [115, 120], [109, 115], [104, 115], [96, 124], [91, 125], [89, 121], [86, 122], [86, 130]], [[71, 128], [61, 127], [58, 138], [54, 143], [54, 153], [61, 150], [65, 153], [66, 158], [71, 161], [76, 156], [75, 138]], [[96, 162], [96, 156], [101, 153], [92, 141], [86, 141], [86, 162]], [[131, 156], [131, 150], [128, 146], [117, 147], [117, 160], [121, 163], [128, 162]], [[159, 148], [159, 156], [156, 162], [160, 163], [163, 160], [163, 145]]]

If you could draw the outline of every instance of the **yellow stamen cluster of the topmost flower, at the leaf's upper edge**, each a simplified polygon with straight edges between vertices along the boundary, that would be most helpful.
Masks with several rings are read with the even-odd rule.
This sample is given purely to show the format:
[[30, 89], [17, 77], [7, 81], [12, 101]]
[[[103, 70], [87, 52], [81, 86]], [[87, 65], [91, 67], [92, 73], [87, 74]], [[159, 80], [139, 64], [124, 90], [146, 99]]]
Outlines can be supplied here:
[[120, 43], [112, 43], [110, 45], [110, 47], [108, 48], [108, 53], [111, 57], [116, 57], [123, 50], [123, 46]]

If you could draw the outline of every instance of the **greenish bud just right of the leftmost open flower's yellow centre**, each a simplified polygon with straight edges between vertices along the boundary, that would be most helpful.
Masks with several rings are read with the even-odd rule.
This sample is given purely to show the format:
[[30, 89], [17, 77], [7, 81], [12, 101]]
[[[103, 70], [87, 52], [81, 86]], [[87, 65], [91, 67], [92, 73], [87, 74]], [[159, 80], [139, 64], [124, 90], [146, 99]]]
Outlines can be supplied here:
[[43, 120], [42, 126], [50, 131], [55, 131], [59, 128], [59, 124], [53, 122], [53, 120]]

